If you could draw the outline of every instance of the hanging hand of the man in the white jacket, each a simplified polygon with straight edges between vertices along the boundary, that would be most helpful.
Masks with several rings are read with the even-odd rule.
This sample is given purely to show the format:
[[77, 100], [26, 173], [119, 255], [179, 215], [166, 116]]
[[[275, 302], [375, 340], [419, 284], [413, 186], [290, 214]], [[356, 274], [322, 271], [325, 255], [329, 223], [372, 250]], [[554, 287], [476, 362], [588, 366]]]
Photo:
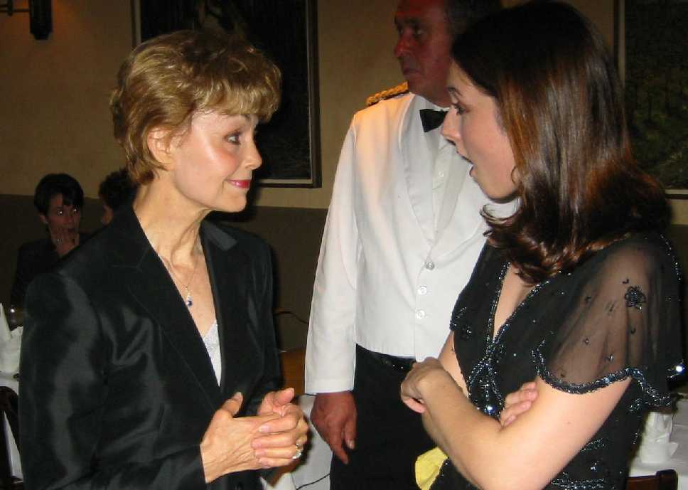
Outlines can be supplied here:
[[311, 410], [311, 421], [332, 452], [344, 464], [349, 464], [348, 449], [356, 440], [356, 404], [350, 391], [318, 393]]

